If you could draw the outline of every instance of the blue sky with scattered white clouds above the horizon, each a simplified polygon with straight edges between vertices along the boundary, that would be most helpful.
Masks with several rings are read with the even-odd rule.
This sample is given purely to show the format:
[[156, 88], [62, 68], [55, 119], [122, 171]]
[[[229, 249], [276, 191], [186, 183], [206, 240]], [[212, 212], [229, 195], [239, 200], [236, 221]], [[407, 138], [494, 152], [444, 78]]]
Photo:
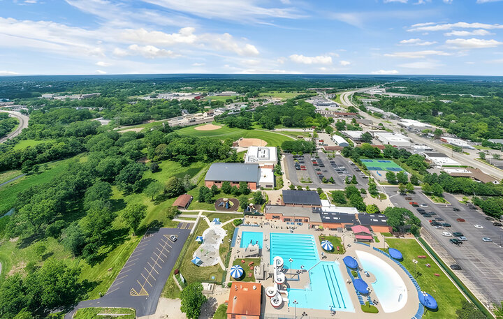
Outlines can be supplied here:
[[502, 75], [498, 0], [0, 0], [0, 75]]

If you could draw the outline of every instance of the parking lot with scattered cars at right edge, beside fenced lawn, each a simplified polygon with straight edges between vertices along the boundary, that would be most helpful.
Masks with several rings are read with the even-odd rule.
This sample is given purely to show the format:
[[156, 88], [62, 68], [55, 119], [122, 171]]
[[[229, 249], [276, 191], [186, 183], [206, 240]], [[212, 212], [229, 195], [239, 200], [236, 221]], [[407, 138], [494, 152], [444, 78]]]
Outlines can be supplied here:
[[[451, 202], [451, 205], [433, 204], [423, 193], [402, 196], [398, 195], [397, 188], [386, 187], [386, 193], [390, 195], [390, 200], [397, 207], [405, 207], [411, 212], [414, 212], [421, 219], [423, 229], [428, 232], [455, 260], [455, 263], [460, 265], [462, 272], [472, 283], [474, 283], [485, 296], [482, 302], [500, 302], [503, 300], [503, 228], [493, 225], [493, 221], [486, 220], [486, 215], [477, 212], [474, 209], [469, 209], [467, 205], [463, 205], [456, 200], [452, 195], [445, 194], [446, 200]], [[410, 197], [411, 200], [407, 200]], [[431, 217], [421, 216], [417, 212], [420, 207], [412, 207], [409, 202], [414, 201], [418, 204], [425, 203], [428, 207], [421, 207], [425, 212], [435, 212], [436, 215]], [[459, 209], [458, 212], [454, 208]], [[436, 217], [444, 219], [441, 223], [449, 223], [451, 227], [436, 229], [430, 225], [430, 220]], [[458, 218], [465, 220], [458, 221]], [[476, 228], [475, 225], [480, 225], [482, 228]], [[444, 236], [442, 232], [461, 232], [466, 241], [462, 244], [453, 244], [450, 239], [458, 238], [455, 236]], [[483, 237], [490, 237], [493, 242], [483, 242]]]

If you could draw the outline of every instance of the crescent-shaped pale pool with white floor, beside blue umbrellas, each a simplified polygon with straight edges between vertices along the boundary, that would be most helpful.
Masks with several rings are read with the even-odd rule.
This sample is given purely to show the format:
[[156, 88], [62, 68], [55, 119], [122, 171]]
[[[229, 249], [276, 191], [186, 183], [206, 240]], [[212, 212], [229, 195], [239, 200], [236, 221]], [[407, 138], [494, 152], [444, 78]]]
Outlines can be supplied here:
[[372, 253], [356, 251], [358, 261], [363, 270], [376, 277], [372, 289], [377, 295], [384, 312], [399, 311], [407, 303], [407, 288], [405, 283], [388, 263]]

